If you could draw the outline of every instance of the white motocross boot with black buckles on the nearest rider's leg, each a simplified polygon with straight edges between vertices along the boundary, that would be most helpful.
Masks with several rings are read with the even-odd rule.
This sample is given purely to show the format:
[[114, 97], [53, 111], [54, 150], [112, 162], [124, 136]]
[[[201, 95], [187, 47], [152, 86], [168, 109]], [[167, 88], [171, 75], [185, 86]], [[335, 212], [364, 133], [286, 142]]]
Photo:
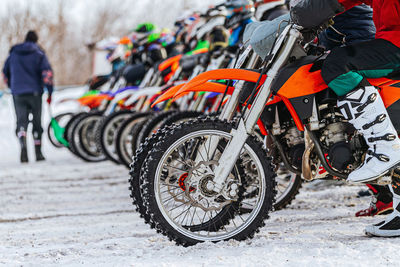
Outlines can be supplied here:
[[348, 93], [338, 107], [369, 146], [364, 164], [350, 173], [348, 182], [373, 181], [400, 163], [400, 139], [374, 86]]

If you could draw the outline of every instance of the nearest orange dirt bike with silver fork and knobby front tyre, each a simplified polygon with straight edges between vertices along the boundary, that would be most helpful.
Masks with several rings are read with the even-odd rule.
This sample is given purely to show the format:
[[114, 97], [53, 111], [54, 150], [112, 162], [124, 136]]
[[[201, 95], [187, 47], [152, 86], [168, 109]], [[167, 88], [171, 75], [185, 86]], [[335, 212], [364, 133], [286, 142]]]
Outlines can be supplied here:
[[[268, 145], [285, 167], [306, 180], [346, 179], [363, 162], [368, 147], [341, 115], [337, 96], [321, 77], [324, 58], [309, 56], [302, 44], [303, 33], [309, 35], [310, 30], [292, 23], [286, 26], [261, 74], [218, 70], [203, 73], [180, 89], [183, 92], [185, 87], [215, 78], [256, 81], [238, 119], [228, 121], [227, 114], [221, 114], [162, 130], [140, 176], [147, 214], [159, 232], [189, 246], [244, 240], [264, 225], [276, 194], [276, 173], [274, 159], [266, 156], [254, 136], [256, 125], [270, 137], [272, 144]], [[380, 88], [398, 130], [399, 80], [369, 79]], [[239, 96], [232, 94], [226, 105], [236, 107], [238, 101]], [[305, 144], [304, 148], [299, 144]], [[246, 164], [253, 167], [252, 173], [244, 171]], [[387, 183], [392, 171], [375, 182]]]

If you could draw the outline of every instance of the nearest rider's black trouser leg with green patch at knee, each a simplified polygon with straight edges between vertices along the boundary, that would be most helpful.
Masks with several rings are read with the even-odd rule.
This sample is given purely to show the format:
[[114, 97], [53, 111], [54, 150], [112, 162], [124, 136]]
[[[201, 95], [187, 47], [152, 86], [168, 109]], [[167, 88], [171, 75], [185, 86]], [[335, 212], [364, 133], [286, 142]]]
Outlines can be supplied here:
[[400, 67], [400, 48], [376, 39], [334, 48], [322, 66], [326, 84], [339, 96], [359, 86], [364, 78], [381, 78]]

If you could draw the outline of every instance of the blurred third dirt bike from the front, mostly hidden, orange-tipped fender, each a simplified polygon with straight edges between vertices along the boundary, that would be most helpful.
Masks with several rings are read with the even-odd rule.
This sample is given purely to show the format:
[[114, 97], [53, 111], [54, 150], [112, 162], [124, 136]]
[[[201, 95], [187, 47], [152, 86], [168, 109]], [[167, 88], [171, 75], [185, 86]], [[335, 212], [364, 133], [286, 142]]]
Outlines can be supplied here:
[[[217, 44], [214, 45], [214, 48], [221, 46], [222, 43], [227, 43], [227, 35], [222, 34], [225, 33], [226, 30], [221, 28], [224, 25], [224, 21], [225, 16], [217, 12], [215, 16], [211, 16], [210, 20], [206, 24], [202, 25], [198, 31], [196, 31], [196, 38], [204, 39], [209, 36], [211, 43]], [[218, 38], [214, 40], [213, 38], [216, 38], [215, 36], [217, 33], [222, 34], [222, 39], [225, 38], [226, 42], [221, 42], [222, 39], [218, 39], [221, 36], [218, 36]], [[172, 57], [162, 62], [159, 65], [159, 68], [160, 72], [163, 72], [164, 70], [173, 70], [174, 75], [170, 80], [181, 83], [182, 80], [187, 80], [187, 78], [190, 78], [191, 76], [195, 77], [197, 74], [205, 71], [206, 69], [226, 67], [227, 64], [232, 61], [233, 57], [234, 53], [228, 49], [214, 49], [213, 51], [209, 52], [208, 49], [203, 48], [194, 50], [186, 55]], [[167, 77], [170, 76], [171, 74], [168, 74]], [[173, 84], [169, 83], [169, 85]], [[211, 97], [212, 96], [210, 95], [196, 94], [196, 99], [191, 99], [193, 100], [191, 103], [189, 103], [190, 100], [186, 101], [186, 103], [181, 106], [180, 104], [170, 105], [166, 103], [166, 105], [157, 109], [161, 112], [148, 114], [147, 119], [140, 122], [140, 124], [136, 124], [133, 121], [126, 121], [125, 124], [120, 127], [119, 134], [117, 136], [117, 142], [115, 143], [117, 146], [116, 151], [118, 152], [121, 162], [124, 162], [126, 166], [129, 166], [132, 162], [134, 152], [147, 137], [150, 137], [152, 133], [154, 133], [161, 126], [165, 125], [166, 122], [169, 123], [175, 119], [182, 120], [188, 116], [193, 116], [193, 114], [198, 115], [198, 113], [194, 113], [194, 111], [202, 110], [206, 105], [206, 102], [209, 101]], [[185, 114], [182, 114], [181, 112]]]

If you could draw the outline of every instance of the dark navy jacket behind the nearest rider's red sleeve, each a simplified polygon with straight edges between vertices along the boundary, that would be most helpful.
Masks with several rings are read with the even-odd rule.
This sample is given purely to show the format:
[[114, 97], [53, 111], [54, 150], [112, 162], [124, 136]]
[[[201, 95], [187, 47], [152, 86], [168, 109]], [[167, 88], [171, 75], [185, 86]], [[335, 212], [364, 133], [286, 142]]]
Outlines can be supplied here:
[[367, 5], [353, 7], [334, 18], [333, 27], [319, 36], [321, 45], [328, 50], [336, 46], [350, 45], [375, 39], [375, 25], [372, 20], [372, 8]]

